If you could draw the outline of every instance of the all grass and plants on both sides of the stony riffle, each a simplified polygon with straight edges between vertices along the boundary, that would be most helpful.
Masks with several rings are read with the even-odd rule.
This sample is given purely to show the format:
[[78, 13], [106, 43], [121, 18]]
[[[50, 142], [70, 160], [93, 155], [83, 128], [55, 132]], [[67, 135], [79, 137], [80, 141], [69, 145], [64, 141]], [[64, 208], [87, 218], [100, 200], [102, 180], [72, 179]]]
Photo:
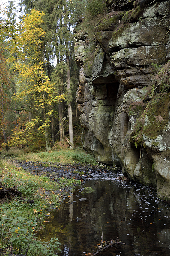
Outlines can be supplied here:
[[[35, 238], [36, 232], [42, 227], [45, 215], [50, 214], [51, 202], [59, 207], [63, 195], [73, 191], [80, 180], [64, 177], [52, 182], [46, 175], [33, 176], [17, 164], [22, 161], [60, 162], [97, 164], [94, 157], [82, 149], [62, 149], [50, 152], [25, 153], [23, 149], [1, 151], [0, 181], [6, 188], [17, 187], [22, 198], [0, 198], [0, 247], [10, 254], [27, 254], [27, 256], [56, 255], [60, 250], [57, 238], [42, 242]], [[48, 191], [50, 193], [45, 194]], [[69, 195], [68, 195], [69, 196]], [[34, 200], [30, 205], [27, 199]], [[3, 203], [2, 203], [3, 201]]]

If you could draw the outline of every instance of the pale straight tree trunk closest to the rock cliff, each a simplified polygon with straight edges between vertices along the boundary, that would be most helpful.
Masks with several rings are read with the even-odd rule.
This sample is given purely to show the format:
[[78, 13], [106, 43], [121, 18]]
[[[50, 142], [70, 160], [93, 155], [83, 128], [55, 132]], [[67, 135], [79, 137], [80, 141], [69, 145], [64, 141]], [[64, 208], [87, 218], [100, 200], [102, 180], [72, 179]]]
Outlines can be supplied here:
[[[70, 101], [70, 64], [69, 64], [69, 56], [66, 56], [67, 60], [67, 91], [68, 91], [68, 122], [69, 122], [69, 137], [71, 143], [73, 143], [73, 123], [72, 123], [72, 109], [71, 109], [71, 101]], [[70, 146], [70, 149], [73, 149]]]

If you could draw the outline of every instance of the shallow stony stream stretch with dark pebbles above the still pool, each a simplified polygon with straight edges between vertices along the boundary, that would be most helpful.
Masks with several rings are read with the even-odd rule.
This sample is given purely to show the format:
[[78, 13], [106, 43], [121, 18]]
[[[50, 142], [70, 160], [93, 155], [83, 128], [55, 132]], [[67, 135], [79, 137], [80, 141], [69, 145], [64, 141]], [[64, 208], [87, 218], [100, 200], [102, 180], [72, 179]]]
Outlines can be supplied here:
[[[57, 182], [60, 179], [74, 179], [75, 182], [72, 183], [72, 186], [69, 184], [67, 185], [67, 180], [64, 182], [66, 183], [64, 187], [60, 187], [59, 191], [50, 192], [46, 190], [39, 190], [38, 192], [43, 195], [44, 197], [48, 198], [50, 193], [57, 193], [60, 196], [60, 202], [64, 201], [69, 193], [74, 190], [76, 186], [79, 185], [77, 180], [81, 181], [81, 184], [84, 184], [87, 180], [103, 178], [112, 176], [115, 172], [121, 173], [119, 167], [109, 167], [104, 165], [94, 166], [91, 164], [61, 164], [58, 162], [55, 163], [47, 163], [47, 162], [22, 162], [19, 161], [19, 166], [22, 167], [24, 170], [28, 171], [31, 175], [34, 176], [42, 176], [46, 175], [52, 182]], [[52, 209], [53, 206], [50, 205]], [[56, 208], [56, 207], [54, 207]]]

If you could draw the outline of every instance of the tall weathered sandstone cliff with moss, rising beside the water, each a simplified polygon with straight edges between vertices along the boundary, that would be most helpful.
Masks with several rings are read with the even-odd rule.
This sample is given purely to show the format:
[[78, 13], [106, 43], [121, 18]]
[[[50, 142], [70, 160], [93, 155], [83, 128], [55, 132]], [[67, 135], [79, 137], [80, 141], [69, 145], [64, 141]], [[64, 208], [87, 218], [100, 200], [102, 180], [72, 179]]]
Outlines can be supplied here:
[[162, 78], [170, 73], [170, 0], [133, 2], [106, 1], [111, 11], [96, 25], [95, 45], [75, 31], [82, 146], [168, 200], [170, 83], [153, 80], [159, 65]]

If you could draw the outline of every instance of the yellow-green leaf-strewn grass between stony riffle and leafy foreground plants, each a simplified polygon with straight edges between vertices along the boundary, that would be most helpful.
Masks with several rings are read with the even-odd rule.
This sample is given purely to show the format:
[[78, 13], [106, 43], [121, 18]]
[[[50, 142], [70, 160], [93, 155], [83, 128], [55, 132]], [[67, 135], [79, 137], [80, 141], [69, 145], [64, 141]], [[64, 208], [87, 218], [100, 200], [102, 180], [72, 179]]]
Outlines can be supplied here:
[[[55, 206], [58, 207], [62, 198], [61, 192], [65, 193], [67, 188], [74, 186], [75, 183], [80, 183], [80, 181], [64, 177], [58, 178], [57, 182], [52, 182], [45, 175], [33, 176], [22, 167], [11, 165], [9, 161], [10, 160], [5, 162], [3, 160], [0, 163], [1, 183], [5, 187], [17, 187], [17, 190], [23, 194], [23, 198], [33, 199], [35, 201], [33, 207], [27, 205], [26, 211], [25, 206], [23, 208], [22, 215], [29, 214], [31, 218], [39, 214], [43, 216], [45, 214], [44, 210], [48, 208], [46, 205], [49, 205], [52, 201], [55, 202]], [[44, 196], [45, 191], [51, 191], [51, 193], [48, 196]], [[56, 193], [56, 191], [58, 193]], [[24, 201], [22, 203], [19, 201], [19, 204], [23, 203]], [[0, 209], [3, 210], [2, 208]], [[36, 212], [34, 209], [36, 209]]]

